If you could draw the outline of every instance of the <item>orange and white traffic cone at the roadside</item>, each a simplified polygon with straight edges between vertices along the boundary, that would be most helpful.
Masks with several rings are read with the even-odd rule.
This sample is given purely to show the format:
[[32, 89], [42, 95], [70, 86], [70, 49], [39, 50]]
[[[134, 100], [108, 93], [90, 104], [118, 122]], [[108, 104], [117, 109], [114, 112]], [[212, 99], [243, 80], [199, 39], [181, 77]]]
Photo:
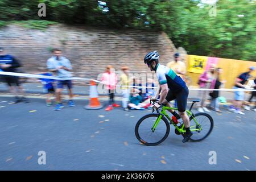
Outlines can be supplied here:
[[84, 106], [85, 109], [101, 109], [103, 106], [100, 101], [98, 101], [98, 92], [96, 82], [90, 81], [90, 101], [89, 105]]

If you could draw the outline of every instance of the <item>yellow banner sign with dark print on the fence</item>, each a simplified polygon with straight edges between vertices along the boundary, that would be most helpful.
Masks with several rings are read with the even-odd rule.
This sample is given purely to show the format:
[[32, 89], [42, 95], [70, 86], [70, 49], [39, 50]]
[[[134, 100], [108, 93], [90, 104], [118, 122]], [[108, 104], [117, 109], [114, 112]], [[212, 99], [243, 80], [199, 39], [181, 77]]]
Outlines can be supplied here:
[[192, 73], [204, 73], [205, 66], [207, 65], [207, 56], [195, 56], [195, 55], [189, 55], [188, 61], [189, 61], [189, 72]]

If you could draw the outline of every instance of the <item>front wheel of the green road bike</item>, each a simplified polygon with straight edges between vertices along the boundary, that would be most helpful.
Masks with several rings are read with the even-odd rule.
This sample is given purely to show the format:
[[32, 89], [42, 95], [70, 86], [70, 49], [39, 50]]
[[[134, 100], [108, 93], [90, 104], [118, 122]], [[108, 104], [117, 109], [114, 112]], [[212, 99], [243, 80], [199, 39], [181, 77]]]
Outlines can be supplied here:
[[135, 126], [135, 135], [139, 142], [146, 146], [156, 146], [162, 143], [170, 133], [170, 124], [165, 117], [162, 117], [153, 129], [159, 114], [147, 114], [137, 122]]

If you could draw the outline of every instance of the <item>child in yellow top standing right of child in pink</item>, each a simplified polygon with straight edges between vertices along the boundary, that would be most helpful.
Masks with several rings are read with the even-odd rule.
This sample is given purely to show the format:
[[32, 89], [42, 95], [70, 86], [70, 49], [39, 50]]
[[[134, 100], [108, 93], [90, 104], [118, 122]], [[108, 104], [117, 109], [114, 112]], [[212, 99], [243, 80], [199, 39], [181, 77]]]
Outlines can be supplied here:
[[128, 110], [128, 101], [129, 101], [129, 94], [130, 94], [129, 77], [128, 77], [129, 68], [122, 67], [121, 69], [123, 71], [122, 75], [120, 76], [122, 96], [123, 96], [122, 106], [123, 106], [123, 110]]

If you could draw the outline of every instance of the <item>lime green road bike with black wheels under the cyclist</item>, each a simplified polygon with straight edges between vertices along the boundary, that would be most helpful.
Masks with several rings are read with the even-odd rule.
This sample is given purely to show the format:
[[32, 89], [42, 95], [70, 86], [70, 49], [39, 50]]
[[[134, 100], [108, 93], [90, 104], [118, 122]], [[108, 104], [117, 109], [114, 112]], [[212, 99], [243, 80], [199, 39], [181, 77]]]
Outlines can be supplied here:
[[[151, 100], [153, 104], [158, 100]], [[150, 102], [151, 102], [150, 101]], [[190, 138], [191, 142], [199, 142], [209, 136], [213, 129], [213, 118], [206, 113], [192, 113], [192, 107], [196, 102], [200, 102], [200, 99], [189, 99], [188, 102], [192, 102], [189, 110], [186, 110], [189, 121], [190, 130], [193, 133]], [[162, 109], [162, 110], [160, 110]], [[161, 106], [154, 113], [154, 107], [152, 113], [144, 115], [135, 126], [135, 135], [139, 142], [146, 146], [156, 146], [162, 143], [168, 137], [170, 133], [170, 125], [174, 125], [175, 134], [182, 135], [186, 132], [183, 123], [175, 123], [174, 119], [170, 118], [166, 113], [166, 110], [177, 110], [174, 107]], [[159, 111], [160, 110], [160, 111]], [[168, 120], [167, 120], [168, 119]], [[180, 119], [182, 121], [182, 119]]]

